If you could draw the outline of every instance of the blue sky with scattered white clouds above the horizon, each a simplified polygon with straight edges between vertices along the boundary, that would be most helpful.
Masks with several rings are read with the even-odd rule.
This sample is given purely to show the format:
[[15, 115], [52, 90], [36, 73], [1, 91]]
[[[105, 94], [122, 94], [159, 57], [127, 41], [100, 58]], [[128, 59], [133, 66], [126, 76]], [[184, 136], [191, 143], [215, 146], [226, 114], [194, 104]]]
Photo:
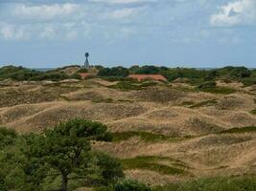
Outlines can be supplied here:
[[0, 0], [0, 67], [256, 68], [256, 0]]

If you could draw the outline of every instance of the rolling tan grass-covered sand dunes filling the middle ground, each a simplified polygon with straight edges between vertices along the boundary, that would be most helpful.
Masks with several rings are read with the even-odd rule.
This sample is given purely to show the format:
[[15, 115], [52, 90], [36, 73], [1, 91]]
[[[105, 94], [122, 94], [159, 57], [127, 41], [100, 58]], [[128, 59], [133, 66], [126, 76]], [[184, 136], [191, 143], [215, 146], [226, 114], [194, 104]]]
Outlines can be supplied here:
[[[162, 175], [145, 169], [126, 171], [129, 177], [151, 183], [191, 175], [256, 173], [255, 133], [216, 134], [234, 127], [256, 126], [256, 116], [249, 113], [256, 108], [256, 96], [249, 88], [233, 85], [238, 92], [223, 96], [190, 91], [182, 84], [130, 92], [110, 89], [109, 85], [113, 83], [102, 79], [11, 84], [0, 88], [0, 124], [19, 133], [42, 132], [59, 121], [81, 117], [105, 122], [112, 132], [150, 132], [175, 138], [146, 141], [132, 137], [94, 145], [122, 159], [155, 156], [178, 159], [187, 165], [190, 176]], [[214, 104], [191, 107], [213, 99]]]

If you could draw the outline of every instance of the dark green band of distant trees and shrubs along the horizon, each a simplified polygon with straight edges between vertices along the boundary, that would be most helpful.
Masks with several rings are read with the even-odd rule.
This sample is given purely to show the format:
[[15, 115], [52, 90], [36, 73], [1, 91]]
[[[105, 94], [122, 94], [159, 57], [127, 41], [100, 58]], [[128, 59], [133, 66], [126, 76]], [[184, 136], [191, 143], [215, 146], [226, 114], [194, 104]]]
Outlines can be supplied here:
[[[65, 69], [69, 67], [77, 67], [77, 71], [73, 74], [66, 74]], [[227, 66], [221, 69], [199, 70], [193, 68], [168, 68], [156, 66], [132, 66], [105, 68], [103, 66], [95, 66], [99, 77], [105, 77], [109, 80], [124, 80], [129, 74], [162, 74], [169, 81], [183, 79], [189, 83], [202, 83], [205, 81], [215, 81], [221, 79], [225, 82], [239, 81], [244, 85], [256, 84], [256, 69], [247, 69], [245, 67]], [[6, 66], [0, 68], [0, 80], [11, 78], [13, 80], [63, 80], [68, 78], [80, 79], [79, 73], [87, 73], [86, 69], [79, 66], [67, 66], [51, 71], [39, 72], [36, 70], [26, 69], [24, 67]]]

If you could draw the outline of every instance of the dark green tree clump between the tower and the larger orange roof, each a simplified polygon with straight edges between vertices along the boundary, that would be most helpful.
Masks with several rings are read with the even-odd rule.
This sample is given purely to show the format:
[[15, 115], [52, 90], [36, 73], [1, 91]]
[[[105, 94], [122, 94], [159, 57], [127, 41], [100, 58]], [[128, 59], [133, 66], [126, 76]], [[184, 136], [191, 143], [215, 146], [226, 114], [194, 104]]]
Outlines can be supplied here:
[[114, 68], [103, 68], [98, 72], [98, 76], [119, 76], [127, 77], [129, 74], [128, 69], [124, 67], [114, 67]]

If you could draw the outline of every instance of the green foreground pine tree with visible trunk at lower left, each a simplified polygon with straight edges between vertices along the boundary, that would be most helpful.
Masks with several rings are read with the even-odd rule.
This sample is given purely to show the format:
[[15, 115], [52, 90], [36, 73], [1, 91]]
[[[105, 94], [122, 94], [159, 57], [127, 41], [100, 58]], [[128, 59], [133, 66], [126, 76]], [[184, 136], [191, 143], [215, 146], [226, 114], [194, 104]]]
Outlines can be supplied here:
[[72, 119], [59, 123], [53, 130], [46, 130], [42, 136], [28, 136], [26, 155], [37, 159], [41, 166], [54, 169], [61, 176], [61, 191], [67, 191], [70, 174], [86, 179], [90, 173], [90, 141], [108, 141], [111, 138], [106, 126], [100, 122]]

